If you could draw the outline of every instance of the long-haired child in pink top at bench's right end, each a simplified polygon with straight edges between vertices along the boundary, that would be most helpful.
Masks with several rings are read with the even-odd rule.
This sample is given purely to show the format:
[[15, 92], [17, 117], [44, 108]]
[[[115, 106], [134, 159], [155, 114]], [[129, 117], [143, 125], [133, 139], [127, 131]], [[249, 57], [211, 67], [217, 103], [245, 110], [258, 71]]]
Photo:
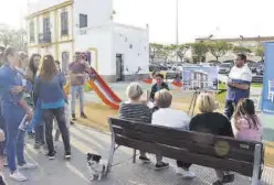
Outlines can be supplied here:
[[236, 139], [262, 141], [262, 123], [255, 113], [255, 106], [251, 99], [244, 98], [238, 102], [231, 123]]

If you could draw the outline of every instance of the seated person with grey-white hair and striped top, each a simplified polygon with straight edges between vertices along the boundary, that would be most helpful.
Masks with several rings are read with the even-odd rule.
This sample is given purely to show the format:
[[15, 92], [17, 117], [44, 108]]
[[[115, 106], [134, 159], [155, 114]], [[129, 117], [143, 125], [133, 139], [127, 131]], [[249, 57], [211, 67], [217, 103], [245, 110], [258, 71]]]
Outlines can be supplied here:
[[[143, 89], [138, 83], [131, 83], [126, 90], [128, 101], [119, 106], [119, 118], [137, 122], [151, 123], [152, 110], [147, 107], [146, 101], [141, 101]], [[140, 151], [139, 160], [150, 162], [145, 151]]]

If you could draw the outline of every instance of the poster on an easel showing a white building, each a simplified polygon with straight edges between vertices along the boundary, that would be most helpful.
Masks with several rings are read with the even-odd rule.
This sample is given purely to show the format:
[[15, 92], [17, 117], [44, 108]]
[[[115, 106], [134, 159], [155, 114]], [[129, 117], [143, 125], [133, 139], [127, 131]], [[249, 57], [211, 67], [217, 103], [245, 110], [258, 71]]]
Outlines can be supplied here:
[[215, 66], [183, 66], [182, 90], [218, 90]]

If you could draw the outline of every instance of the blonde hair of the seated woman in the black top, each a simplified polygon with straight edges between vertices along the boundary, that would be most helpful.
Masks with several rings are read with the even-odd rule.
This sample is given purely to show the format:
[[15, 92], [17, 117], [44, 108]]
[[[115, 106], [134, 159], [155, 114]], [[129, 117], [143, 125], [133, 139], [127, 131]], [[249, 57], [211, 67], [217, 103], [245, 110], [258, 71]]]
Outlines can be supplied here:
[[200, 94], [197, 98], [197, 106], [201, 112], [213, 112], [215, 101], [210, 94]]

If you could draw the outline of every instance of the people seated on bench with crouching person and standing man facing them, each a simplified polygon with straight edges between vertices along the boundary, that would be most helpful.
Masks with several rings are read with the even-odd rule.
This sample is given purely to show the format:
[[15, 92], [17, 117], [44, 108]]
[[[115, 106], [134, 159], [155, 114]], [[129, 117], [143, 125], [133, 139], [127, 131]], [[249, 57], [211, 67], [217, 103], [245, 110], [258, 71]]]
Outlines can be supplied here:
[[[190, 118], [185, 111], [170, 108], [172, 95], [164, 83], [161, 74], [155, 74], [156, 84], [151, 87], [149, 106], [143, 100], [144, 90], [138, 83], [131, 83], [127, 87], [127, 101], [122, 102], [119, 118], [165, 126], [180, 130], [211, 133], [214, 135], [232, 137], [239, 140], [262, 141], [262, 123], [256, 116], [254, 102], [249, 99], [252, 73], [246, 64], [245, 55], [238, 55], [235, 66], [229, 75], [228, 96], [224, 113], [215, 111], [218, 102], [210, 92], [201, 92], [197, 98], [199, 113]], [[139, 160], [150, 162], [146, 151], [140, 151]], [[185, 178], [193, 178], [196, 174], [189, 171], [191, 166], [186, 161], [177, 161], [177, 173]], [[162, 161], [162, 156], [156, 154], [155, 170], [164, 170], [169, 164]], [[218, 181], [213, 185], [222, 185], [234, 181], [234, 174], [215, 170]]]

